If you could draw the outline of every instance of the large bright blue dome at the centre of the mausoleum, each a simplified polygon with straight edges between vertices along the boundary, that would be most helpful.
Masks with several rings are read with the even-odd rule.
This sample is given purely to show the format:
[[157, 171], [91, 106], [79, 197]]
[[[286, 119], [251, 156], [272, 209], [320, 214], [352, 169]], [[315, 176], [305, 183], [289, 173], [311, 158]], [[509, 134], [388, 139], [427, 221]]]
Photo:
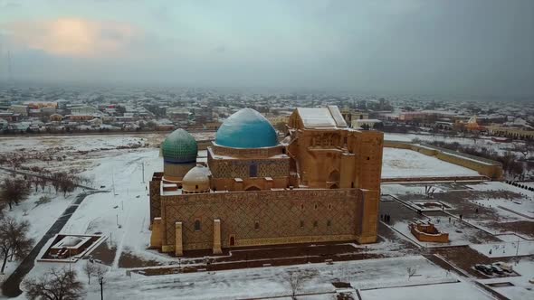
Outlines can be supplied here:
[[262, 148], [278, 145], [278, 139], [274, 127], [262, 114], [243, 108], [224, 120], [215, 143], [232, 148]]

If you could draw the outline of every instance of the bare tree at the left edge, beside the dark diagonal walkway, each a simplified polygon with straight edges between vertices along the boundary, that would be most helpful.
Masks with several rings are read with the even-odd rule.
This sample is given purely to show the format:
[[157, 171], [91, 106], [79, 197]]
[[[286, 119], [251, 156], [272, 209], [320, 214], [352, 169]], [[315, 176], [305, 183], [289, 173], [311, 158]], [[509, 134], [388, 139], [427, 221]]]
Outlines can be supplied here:
[[30, 223], [17, 221], [11, 217], [0, 220], [0, 256], [3, 258], [0, 273], [4, 273], [7, 258], [22, 259], [33, 248], [33, 239], [27, 237]]

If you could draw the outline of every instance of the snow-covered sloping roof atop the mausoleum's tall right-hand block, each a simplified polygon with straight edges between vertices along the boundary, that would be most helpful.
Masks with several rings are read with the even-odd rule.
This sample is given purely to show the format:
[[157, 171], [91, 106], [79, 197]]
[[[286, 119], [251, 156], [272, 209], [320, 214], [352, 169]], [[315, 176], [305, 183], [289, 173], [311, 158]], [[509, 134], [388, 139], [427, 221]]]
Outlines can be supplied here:
[[339, 108], [297, 108], [305, 128], [336, 128], [347, 127], [347, 122], [341, 115]]

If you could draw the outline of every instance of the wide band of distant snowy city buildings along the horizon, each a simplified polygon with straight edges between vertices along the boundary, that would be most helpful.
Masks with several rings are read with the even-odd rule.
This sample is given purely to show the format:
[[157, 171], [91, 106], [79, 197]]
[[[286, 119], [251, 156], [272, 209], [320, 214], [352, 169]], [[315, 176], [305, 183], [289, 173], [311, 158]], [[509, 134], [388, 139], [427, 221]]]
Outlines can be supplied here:
[[349, 127], [391, 132], [534, 138], [534, 101], [373, 97], [335, 93], [245, 93], [214, 89], [0, 89], [0, 133], [217, 130], [241, 108], [261, 112], [281, 134], [294, 108], [336, 105]]

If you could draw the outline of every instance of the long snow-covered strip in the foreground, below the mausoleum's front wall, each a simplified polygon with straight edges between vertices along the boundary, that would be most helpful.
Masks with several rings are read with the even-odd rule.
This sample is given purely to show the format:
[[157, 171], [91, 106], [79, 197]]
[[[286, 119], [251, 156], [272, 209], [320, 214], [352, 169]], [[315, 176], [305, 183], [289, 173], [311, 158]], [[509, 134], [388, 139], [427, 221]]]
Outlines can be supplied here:
[[[408, 281], [407, 267], [416, 273]], [[423, 257], [380, 258], [291, 267], [261, 267], [210, 273], [188, 273], [157, 277], [111, 271], [106, 286], [113, 299], [236, 299], [291, 295], [288, 271], [309, 277], [300, 293], [328, 293], [334, 281], [350, 282], [355, 288], [383, 288], [417, 284], [456, 282], [458, 278]], [[379, 280], [377, 280], [379, 278]], [[89, 288], [88, 299], [100, 299], [97, 285]]]

